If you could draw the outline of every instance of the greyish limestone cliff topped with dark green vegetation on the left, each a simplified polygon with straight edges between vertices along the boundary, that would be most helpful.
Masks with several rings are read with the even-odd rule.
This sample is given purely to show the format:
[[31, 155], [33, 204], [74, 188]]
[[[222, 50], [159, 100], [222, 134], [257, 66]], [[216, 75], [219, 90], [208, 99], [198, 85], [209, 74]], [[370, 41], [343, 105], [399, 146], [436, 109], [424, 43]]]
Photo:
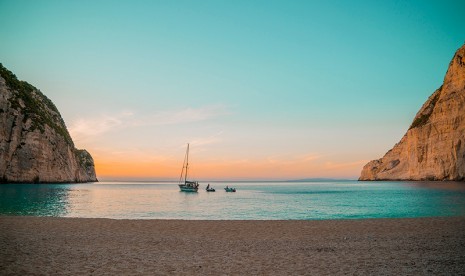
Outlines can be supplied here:
[[55, 105], [0, 64], [0, 182], [95, 182]]

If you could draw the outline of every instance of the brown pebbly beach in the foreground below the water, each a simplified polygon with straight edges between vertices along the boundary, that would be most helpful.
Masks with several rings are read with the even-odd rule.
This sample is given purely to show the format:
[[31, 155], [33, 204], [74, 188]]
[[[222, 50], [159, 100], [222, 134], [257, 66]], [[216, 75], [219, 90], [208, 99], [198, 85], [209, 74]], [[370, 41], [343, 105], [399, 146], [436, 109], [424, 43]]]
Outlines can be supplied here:
[[465, 273], [465, 218], [0, 217], [1, 275]]

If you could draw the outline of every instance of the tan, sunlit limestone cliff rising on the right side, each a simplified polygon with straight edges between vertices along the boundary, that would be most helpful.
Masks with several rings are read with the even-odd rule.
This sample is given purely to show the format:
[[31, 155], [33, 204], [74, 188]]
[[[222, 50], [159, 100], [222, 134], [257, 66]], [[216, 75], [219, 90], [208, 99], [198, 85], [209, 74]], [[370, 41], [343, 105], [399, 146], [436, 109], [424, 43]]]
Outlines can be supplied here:
[[465, 45], [404, 137], [359, 180], [465, 180]]

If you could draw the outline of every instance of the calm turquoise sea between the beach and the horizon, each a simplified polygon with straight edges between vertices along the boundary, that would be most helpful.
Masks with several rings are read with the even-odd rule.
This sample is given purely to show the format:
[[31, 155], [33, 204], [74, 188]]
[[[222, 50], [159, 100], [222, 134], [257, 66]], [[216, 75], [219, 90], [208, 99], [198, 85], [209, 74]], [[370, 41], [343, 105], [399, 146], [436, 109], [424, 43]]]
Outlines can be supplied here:
[[[0, 185], [0, 215], [116, 219], [364, 219], [465, 215], [460, 182], [210, 182]], [[236, 187], [236, 193], [223, 188]]]

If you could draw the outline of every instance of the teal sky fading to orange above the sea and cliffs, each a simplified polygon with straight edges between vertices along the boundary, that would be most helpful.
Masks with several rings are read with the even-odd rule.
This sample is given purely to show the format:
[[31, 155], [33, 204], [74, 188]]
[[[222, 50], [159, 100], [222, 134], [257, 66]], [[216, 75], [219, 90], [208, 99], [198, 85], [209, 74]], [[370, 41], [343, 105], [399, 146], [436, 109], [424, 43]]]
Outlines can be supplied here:
[[465, 42], [464, 1], [0, 0], [0, 62], [100, 180], [358, 178]]

